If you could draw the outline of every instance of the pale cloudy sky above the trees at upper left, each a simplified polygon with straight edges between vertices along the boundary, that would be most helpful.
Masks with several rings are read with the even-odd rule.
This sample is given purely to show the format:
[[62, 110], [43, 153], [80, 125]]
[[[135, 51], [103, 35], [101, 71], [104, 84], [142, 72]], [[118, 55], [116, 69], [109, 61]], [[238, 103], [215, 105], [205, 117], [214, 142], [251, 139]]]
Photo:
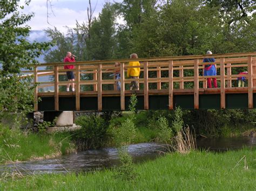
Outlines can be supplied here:
[[[21, 1], [24, 2], [25, 0]], [[51, 0], [52, 11], [49, 9], [49, 25], [47, 23], [47, 5], [46, 0], [31, 0], [29, 6], [25, 6], [23, 13], [34, 12], [33, 17], [27, 24], [31, 30], [44, 30], [48, 27], [57, 27], [58, 30], [65, 32], [65, 26], [74, 27], [76, 20], [79, 23], [87, 21], [87, 7], [89, 0]], [[93, 16], [98, 16], [106, 0], [91, 0], [92, 9], [95, 8]], [[109, 0], [108, 2], [122, 2], [122, 0]]]

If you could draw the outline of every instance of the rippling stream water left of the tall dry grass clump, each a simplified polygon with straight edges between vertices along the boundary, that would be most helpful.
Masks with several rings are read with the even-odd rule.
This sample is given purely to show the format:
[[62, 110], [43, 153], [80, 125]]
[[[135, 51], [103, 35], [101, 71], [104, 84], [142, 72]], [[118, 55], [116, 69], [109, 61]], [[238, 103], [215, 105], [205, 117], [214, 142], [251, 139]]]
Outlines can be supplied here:
[[[165, 145], [158, 143], [134, 144], [128, 147], [134, 162], [156, 159], [165, 151]], [[87, 150], [76, 154], [63, 155], [54, 159], [26, 161], [19, 164], [6, 165], [10, 171], [15, 168], [22, 173], [65, 173], [90, 171], [91, 169], [112, 167], [119, 165], [116, 148], [103, 148], [100, 150]], [[0, 167], [0, 172], [3, 168]]]

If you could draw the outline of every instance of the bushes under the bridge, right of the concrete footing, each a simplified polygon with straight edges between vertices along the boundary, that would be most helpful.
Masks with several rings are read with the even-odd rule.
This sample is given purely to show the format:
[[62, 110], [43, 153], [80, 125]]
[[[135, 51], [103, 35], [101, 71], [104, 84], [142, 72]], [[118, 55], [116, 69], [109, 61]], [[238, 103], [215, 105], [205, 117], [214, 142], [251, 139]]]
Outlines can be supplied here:
[[[256, 110], [248, 109], [137, 111], [133, 120], [130, 112], [110, 115], [109, 121], [104, 115], [77, 118], [76, 124], [82, 129], [74, 137], [82, 143], [80, 148], [116, 146], [119, 140], [114, 137], [122, 137], [121, 132], [133, 136], [132, 143], [170, 142], [177, 135], [176, 125], [190, 126], [197, 137], [241, 137], [256, 132]], [[136, 133], [128, 132], [131, 126]]]

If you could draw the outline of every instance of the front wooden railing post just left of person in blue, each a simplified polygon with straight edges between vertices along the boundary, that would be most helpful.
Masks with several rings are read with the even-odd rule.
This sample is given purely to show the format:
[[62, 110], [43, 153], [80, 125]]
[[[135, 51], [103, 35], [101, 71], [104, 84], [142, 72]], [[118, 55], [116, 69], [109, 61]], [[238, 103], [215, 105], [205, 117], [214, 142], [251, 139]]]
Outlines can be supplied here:
[[199, 74], [198, 74], [199, 60], [194, 60], [194, 109], [199, 109]]

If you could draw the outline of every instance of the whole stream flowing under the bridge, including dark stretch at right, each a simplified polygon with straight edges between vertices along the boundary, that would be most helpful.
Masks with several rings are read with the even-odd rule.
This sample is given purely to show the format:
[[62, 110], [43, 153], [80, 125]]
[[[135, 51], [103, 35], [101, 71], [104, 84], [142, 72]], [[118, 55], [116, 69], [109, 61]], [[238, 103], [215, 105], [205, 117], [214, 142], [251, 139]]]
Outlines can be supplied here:
[[[200, 138], [197, 139], [198, 148], [210, 151], [235, 150], [242, 147], [255, 147], [256, 138]], [[128, 147], [134, 162], [153, 160], [166, 150], [166, 145], [160, 143], [141, 143]], [[93, 169], [102, 169], [119, 165], [116, 148], [102, 148], [99, 150], [87, 150], [74, 154], [63, 155], [53, 159], [26, 161], [18, 164], [0, 166], [3, 171], [12, 172], [18, 170], [21, 173], [66, 173], [85, 172]]]

